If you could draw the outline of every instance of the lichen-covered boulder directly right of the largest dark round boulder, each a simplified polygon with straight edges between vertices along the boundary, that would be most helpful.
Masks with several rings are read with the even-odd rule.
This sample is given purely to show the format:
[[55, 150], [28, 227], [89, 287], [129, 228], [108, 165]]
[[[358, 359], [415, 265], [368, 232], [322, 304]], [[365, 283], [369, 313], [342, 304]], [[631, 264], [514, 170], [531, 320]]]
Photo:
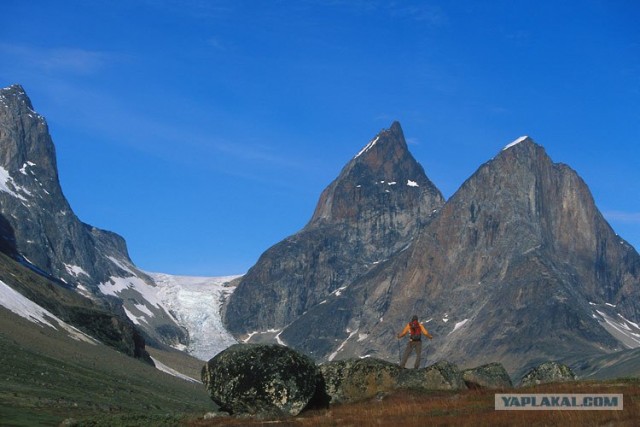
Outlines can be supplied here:
[[392, 391], [400, 367], [375, 358], [344, 359], [319, 366], [331, 404], [354, 402]]

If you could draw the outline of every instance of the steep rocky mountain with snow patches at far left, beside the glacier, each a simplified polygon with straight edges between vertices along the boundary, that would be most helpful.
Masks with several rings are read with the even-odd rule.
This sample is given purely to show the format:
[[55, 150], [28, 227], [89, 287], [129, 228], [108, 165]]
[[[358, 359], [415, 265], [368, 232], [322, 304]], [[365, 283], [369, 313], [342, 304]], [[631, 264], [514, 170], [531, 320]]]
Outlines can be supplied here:
[[64, 197], [44, 117], [19, 85], [0, 89], [0, 249], [62, 287], [133, 320], [147, 340], [187, 343], [129, 258], [124, 239], [83, 223]]

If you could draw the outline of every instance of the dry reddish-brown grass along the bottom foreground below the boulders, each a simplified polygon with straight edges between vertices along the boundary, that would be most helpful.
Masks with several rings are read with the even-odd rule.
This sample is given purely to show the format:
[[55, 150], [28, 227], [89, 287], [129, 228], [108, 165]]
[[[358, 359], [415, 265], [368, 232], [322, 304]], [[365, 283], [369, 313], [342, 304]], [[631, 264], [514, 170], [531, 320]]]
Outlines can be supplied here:
[[[496, 411], [495, 393], [621, 393], [623, 411]], [[549, 384], [528, 389], [463, 392], [397, 392], [354, 404], [308, 411], [295, 418], [253, 420], [222, 418], [193, 421], [194, 426], [637, 426], [637, 380]]]

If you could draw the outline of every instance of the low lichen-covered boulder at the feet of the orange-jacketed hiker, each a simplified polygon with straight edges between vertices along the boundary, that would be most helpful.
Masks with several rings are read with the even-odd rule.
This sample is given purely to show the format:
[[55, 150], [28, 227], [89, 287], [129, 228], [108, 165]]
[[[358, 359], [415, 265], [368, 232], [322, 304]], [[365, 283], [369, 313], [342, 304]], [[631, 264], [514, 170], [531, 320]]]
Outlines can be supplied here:
[[422, 369], [402, 369], [399, 388], [417, 390], [465, 390], [467, 388], [458, 366], [440, 361]]

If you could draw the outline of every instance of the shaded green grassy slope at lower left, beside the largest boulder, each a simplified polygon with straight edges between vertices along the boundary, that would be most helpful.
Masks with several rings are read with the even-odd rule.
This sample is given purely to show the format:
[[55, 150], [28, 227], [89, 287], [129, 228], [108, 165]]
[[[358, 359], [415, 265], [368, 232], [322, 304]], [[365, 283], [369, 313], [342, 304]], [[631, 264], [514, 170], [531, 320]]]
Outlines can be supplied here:
[[59, 425], [69, 417], [112, 425], [125, 414], [161, 424], [174, 419], [167, 414], [203, 414], [213, 408], [201, 384], [104, 345], [72, 340], [0, 307], [2, 425]]

